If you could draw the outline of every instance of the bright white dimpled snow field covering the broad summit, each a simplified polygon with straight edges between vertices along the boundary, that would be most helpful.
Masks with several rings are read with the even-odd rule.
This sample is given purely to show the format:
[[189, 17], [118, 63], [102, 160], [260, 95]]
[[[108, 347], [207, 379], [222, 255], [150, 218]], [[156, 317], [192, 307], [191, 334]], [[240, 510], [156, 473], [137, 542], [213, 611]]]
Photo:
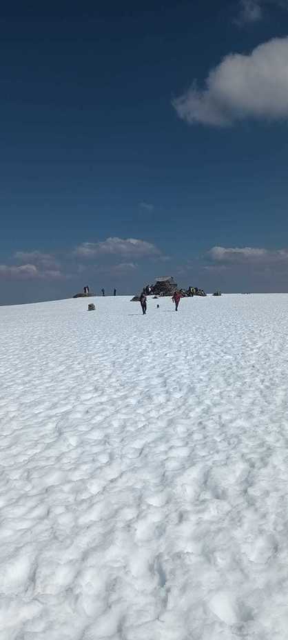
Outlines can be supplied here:
[[0, 308], [3, 640], [287, 639], [288, 295]]

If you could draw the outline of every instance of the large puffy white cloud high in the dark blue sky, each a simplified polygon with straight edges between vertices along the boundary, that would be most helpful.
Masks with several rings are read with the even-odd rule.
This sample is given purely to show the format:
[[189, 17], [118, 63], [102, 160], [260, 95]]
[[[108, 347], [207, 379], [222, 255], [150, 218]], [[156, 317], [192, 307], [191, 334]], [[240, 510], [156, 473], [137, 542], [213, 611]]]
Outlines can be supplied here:
[[173, 101], [189, 124], [231, 126], [245, 118], [288, 119], [288, 38], [275, 38], [250, 54], [229, 54], [199, 89], [196, 81]]

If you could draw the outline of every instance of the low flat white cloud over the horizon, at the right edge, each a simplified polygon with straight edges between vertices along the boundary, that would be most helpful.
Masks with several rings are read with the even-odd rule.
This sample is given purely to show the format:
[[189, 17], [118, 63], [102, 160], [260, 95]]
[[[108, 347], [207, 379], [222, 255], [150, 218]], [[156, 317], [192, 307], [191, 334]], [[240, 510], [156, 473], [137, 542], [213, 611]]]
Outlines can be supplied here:
[[218, 265], [247, 263], [287, 263], [288, 249], [269, 250], [254, 247], [212, 247], [207, 257]]

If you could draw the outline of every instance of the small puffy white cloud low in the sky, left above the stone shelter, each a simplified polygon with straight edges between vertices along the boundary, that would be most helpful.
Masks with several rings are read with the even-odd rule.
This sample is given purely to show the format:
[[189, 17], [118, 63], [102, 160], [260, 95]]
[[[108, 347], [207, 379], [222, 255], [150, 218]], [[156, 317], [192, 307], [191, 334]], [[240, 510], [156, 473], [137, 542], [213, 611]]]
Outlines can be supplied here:
[[75, 250], [81, 258], [103, 256], [146, 257], [159, 254], [156, 246], [135, 238], [107, 238], [103, 242], [83, 242]]

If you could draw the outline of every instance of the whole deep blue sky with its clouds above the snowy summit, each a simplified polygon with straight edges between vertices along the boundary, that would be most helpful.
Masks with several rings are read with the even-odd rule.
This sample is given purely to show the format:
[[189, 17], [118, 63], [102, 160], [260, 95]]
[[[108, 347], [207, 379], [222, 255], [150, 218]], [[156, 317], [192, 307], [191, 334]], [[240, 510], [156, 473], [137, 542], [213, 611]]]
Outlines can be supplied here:
[[1, 10], [0, 303], [288, 291], [288, 1], [45, 5]]

